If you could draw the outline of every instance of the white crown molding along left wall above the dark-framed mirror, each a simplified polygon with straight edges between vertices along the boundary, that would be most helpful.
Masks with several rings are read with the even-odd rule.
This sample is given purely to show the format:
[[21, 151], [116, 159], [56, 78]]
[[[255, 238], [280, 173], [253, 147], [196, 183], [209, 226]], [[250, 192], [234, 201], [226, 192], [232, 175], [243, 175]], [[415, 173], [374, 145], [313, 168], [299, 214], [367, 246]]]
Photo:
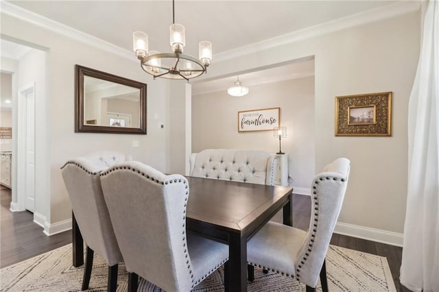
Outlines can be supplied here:
[[93, 47], [97, 47], [98, 49], [114, 53], [117, 56], [132, 60], [133, 62], [138, 62], [137, 58], [133, 58], [134, 55], [132, 51], [128, 51], [127, 49], [113, 45], [112, 43], [101, 40], [100, 38], [96, 38], [95, 36], [85, 34], [78, 29], [73, 29], [72, 27], [63, 25], [62, 23], [52, 21], [51, 19], [47, 19], [45, 16], [25, 10], [3, 0], [1, 0], [1, 14], [12, 16], [15, 19], [20, 19], [21, 21], [25, 21], [27, 23], [32, 23], [33, 25], [51, 30], [52, 32], [56, 32], [62, 36], [73, 38], [80, 42], [84, 42], [87, 45], [91, 45]]

